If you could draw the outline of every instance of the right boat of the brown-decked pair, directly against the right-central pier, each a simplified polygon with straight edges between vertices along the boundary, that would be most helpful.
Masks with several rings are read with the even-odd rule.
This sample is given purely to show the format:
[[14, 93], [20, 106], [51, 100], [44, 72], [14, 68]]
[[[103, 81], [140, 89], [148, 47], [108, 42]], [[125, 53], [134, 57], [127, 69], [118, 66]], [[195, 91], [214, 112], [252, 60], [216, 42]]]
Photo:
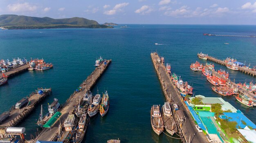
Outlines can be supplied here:
[[177, 132], [177, 126], [175, 125], [173, 114], [171, 112], [171, 106], [168, 102], [165, 102], [162, 107], [162, 118], [164, 128], [169, 134], [173, 135], [175, 132]]

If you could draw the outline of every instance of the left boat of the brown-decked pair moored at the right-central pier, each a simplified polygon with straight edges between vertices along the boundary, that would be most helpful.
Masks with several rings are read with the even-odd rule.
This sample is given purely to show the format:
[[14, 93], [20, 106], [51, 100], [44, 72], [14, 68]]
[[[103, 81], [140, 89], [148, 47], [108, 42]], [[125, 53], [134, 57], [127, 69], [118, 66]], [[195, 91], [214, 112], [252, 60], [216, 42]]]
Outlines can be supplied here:
[[158, 105], [151, 107], [150, 120], [152, 129], [157, 135], [160, 135], [164, 131], [164, 122]]

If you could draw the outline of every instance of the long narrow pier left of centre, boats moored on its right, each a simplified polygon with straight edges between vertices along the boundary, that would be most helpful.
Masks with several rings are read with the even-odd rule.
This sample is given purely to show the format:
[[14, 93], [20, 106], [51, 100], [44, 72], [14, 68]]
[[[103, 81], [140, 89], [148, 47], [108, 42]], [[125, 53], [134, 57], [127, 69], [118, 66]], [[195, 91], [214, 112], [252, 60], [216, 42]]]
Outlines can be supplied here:
[[95, 70], [87, 77], [85, 81], [80, 85], [81, 91], [74, 92], [69, 99], [67, 99], [64, 107], [61, 109], [61, 117], [59, 117], [55, 123], [51, 126], [51, 128], [44, 128], [38, 136], [31, 140], [30, 142], [35, 141], [56, 141], [57, 135], [58, 135], [58, 126], [60, 124], [60, 120], [63, 121], [67, 118], [69, 112], [71, 112], [74, 108], [73, 106], [76, 105], [77, 99], [79, 97], [83, 97], [85, 92], [89, 91], [94, 84], [96, 84], [97, 80], [101, 75], [104, 73], [104, 71], [108, 68], [108, 65], [111, 63], [111, 59], [107, 60], [106, 65], [100, 64], [98, 67], [95, 68]]

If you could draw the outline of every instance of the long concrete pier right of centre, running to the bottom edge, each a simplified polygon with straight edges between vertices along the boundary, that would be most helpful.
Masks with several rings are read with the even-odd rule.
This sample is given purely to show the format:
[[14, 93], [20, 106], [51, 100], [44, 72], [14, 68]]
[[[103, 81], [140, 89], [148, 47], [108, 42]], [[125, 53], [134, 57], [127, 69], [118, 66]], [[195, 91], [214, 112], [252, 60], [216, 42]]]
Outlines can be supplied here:
[[207, 139], [204, 134], [198, 132], [195, 128], [195, 122], [188, 108], [184, 106], [181, 96], [178, 94], [175, 86], [171, 81], [170, 75], [165, 70], [162, 63], [158, 63], [157, 59], [159, 56], [157, 53], [151, 53], [151, 59], [157, 72], [159, 81], [162, 86], [164, 95], [171, 104], [176, 103], [179, 106], [179, 110], [184, 114], [185, 118], [183, 121], [177, 119], [177, 113], [175, 112], [176, 122], [179, 123], [178, 129], [182, 134], [183, 143], [207, 143]]

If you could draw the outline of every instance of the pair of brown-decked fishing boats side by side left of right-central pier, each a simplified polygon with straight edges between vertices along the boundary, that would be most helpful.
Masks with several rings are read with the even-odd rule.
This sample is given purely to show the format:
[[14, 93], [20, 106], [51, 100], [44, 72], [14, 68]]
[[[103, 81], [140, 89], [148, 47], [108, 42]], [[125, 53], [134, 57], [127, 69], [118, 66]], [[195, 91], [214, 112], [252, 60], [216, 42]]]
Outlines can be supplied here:
[[160, 135], [164, 129], [171, 135], [177, 132], [176, 122], [174, 120], [171, 105], [165, 102], [160, 110], [160, 105], [153, 105], [150, 112], [151, 126], [157, 135]]

